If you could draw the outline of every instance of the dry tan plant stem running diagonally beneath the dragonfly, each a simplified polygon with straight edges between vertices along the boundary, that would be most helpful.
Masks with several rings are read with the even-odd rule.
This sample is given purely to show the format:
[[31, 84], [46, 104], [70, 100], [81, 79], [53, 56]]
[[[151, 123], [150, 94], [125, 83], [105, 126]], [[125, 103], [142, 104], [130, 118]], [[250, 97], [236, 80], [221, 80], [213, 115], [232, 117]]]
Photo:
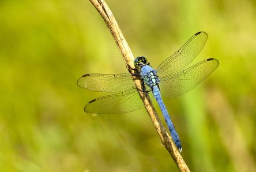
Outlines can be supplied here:
[[[111, 10], [109, 9], [109, 7], [107, 6], [104, 0], [90, 0], [90, 1], [93, 4], [93, 6], [95, 6], [97, 11], [99, 11], [101, 17], [106, 22], [107, 27], [110, 29], [110, 32], [116, 42], [116, 45], [118, 46], [122, 54], [123, 60], [125, 61], [127, 69], [129, 70], [130, 73], [134, 73], [135, 71], [131, 70], [131, 68], [134, 68], [133, 53], [131, 53], [131, 49], [129, 48], [126, 42], [125, 37], [123, 37], [123, 34]], [[137, 88], [142, 88], [141, 80], [138, 80], [135, 77], [133, 77], [133, 81]], [[163, 127], [163, 124], [160, 122], [159, 116], [157, 115], [156, 110], [153, 107], [151, 100], [149, 99], [148, 94], [141, 91], [138, 91], [138, 93], [140, 94], [141, 99], [145, 105], [146, 111], [148, 112], [150, 119], [152, 120], [156, 128], [156, 131], [160, 136], [161, 143], [171, 154], [172, 159], [174, 159], [174, 162], [176, 163], [180, 171], [190, 171], [185, 161], [183, 160], [182, 156], [180, 155], [178, 149], [176, 148], [173, 140], [167, 134], [167, 132]]]

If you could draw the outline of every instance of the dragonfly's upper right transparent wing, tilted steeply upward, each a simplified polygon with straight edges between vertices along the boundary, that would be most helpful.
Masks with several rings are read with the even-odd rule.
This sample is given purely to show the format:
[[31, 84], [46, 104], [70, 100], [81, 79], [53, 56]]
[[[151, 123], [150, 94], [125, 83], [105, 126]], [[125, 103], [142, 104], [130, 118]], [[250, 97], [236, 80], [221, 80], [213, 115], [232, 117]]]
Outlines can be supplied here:
[[185, 68], [201, 52], [207, 39], [208, 35], [205, 32], [194, 34], [182, 48], [157, 67], [157, 75], [164, 77]]

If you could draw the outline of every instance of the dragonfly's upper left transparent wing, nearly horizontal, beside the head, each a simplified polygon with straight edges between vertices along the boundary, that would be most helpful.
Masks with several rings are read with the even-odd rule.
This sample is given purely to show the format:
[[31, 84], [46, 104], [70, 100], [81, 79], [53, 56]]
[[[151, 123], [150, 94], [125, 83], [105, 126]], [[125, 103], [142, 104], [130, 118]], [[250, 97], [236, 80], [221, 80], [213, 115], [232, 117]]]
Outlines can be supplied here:
[[77, 85], [91, 91], [101, 92], [122, 92], [135, 87], [130, 73], [86, 74], [77, 80]]

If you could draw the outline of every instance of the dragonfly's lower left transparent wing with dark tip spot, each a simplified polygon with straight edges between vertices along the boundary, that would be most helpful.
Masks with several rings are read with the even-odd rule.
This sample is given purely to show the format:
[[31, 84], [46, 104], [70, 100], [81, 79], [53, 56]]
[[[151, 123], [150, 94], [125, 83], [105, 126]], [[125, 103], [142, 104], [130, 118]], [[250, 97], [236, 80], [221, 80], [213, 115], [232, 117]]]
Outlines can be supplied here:
[[[149, 93], [150, 98], [153, 97]], [[99, 97], [85, 105], [84, 111], [91, 114], [121, 114], [144, 107], [137, 89]]]

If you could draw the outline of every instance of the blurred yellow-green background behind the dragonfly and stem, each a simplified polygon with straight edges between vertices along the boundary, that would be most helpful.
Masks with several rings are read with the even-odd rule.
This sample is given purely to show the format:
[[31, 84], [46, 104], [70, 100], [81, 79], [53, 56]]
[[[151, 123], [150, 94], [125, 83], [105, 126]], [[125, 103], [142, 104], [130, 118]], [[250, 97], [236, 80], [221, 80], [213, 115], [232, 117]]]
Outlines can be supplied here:
[[[255, 1], [106, 1], [134, 56], [156, 68], [193, 34], [193, 64], [220, 66], [193, 91], [164, 99], [191, 171], [256, 171]], [[0, 1], [0, 171], [178, 171], [144, 109], [85, 114], [107, 95], [86, 73], [125, 73], [89, 1]], [[163, 119], [155, 103], [160, 118]]]

